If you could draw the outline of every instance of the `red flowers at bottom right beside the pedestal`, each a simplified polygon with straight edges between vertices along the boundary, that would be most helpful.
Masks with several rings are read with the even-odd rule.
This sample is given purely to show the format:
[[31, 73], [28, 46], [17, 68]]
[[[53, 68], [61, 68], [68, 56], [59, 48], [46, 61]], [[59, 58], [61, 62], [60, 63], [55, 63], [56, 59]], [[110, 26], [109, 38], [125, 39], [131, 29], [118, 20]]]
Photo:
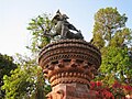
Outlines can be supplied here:
[[91, 81], [90, 82], [90, 90], [94, 90], [96, 94], [96, 99], [121, 99], [125, 98], [125, 91], [132, 91], [132, 86], [125, 85], [122, 86], [120, 82], [114, 81], [111, 86], [103, 85], [101, 81]]

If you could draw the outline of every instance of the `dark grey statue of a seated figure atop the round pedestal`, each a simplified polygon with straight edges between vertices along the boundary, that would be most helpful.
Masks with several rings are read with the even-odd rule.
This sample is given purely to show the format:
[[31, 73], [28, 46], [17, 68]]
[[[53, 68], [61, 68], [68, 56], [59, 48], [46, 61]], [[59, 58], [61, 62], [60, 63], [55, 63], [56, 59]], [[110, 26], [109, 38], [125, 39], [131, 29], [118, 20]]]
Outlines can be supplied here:
[[[62, 14], [59, 10], [56, 12], [56, 15], [52, 19], [52, 23], [55, 25], [55, 33], [52, 36], [61, 35], [61, 38], [84, 40], [81, 32], [70, 24], [67, 19], [69, 18]], [[76, 33], [72, 31], [76, 31]]]

